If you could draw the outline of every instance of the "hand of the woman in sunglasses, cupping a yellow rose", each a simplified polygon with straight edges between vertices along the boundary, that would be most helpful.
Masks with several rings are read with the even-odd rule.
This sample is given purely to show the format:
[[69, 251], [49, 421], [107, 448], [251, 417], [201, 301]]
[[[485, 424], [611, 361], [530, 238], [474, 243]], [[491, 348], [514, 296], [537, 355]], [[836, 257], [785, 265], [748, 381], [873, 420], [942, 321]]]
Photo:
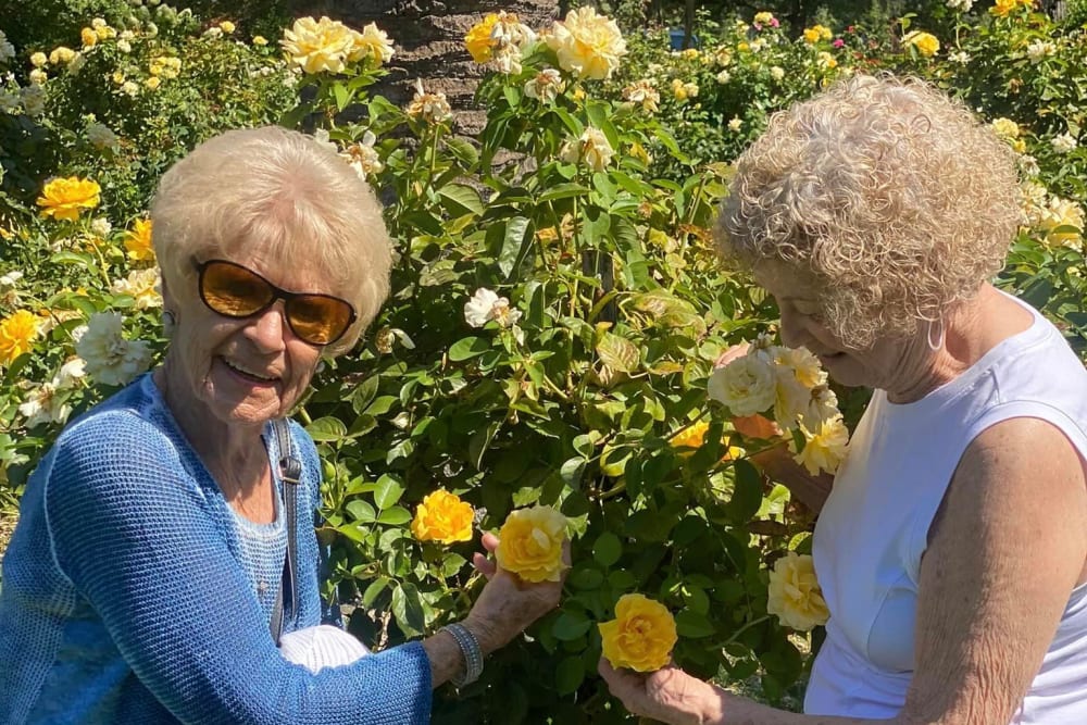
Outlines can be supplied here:
[[[498, 537], [484, 534], [483, 546], [493, 553], [498, 548]], [[475, 554], [472, 563], [487, 577], [487, 585], [465, 617], [464, 626], [479, 640], [484, 653], [504, 647], [528, 625], [559, 605], [562, 584], [570, 571], [570, 540], [563, 543], [562, 561], [566, 567], [559, 582], [529, 584], [500, 568], [488, 557]]]

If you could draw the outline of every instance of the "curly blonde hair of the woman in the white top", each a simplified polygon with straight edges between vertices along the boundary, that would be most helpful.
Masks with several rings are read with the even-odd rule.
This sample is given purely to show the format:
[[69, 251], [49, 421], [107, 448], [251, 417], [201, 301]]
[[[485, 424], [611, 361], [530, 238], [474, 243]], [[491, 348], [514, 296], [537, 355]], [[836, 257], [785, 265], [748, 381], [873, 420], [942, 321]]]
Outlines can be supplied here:
[[726, 261], [812, 275], [857, 348], [916, 334], [1003, 265], [1020, 222], [1011, 150], [916, 79], [858, 75], [775, 114], [717, 220]]

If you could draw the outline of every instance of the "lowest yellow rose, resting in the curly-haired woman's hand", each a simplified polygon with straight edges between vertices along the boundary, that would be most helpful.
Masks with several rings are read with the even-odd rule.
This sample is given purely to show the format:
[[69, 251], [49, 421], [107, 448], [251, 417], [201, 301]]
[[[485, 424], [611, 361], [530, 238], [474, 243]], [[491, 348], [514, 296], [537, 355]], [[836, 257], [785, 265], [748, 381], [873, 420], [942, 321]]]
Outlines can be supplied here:
[[642, 595], [623, 595], [615, 618], [597, 625], [603, 655], [613, 667], [654, 672], [669, 663], [678, 640], [669, 609]]

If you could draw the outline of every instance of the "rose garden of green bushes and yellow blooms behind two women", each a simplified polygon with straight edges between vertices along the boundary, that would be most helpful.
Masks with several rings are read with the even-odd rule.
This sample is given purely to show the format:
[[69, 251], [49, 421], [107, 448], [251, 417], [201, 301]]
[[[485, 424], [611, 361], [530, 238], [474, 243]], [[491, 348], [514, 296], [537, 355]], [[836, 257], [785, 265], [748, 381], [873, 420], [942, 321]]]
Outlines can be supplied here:
[[[328, 2], [317, 10], [358, 36], [320, 58], [285, 55], [295, 18], [321, 13], [278, 0], [12, 4], [0, 536], [64, 422], [164, 349], [146, 222], [159, 176], [220, 129], [313, 133], [378, 191], [397, 252], [379, 318], [296, 412], [323, 455], [318, 536], [351, 632], [384, 647], [466, 612], [478, 539], [411, 527], [436, 488], [470, 502], [479, 529], [546, 503], [574, 537], [560, 610], [475, 685], [440, 691], [438, 723], [623, 722], [595, 675], [595, 624], [632, 591], [675, 613], [680, 665], [796, 707], [820, 629], [767, 614], [767, 582], [810, 550], [812, 517], [747, 460], [776, 441], [707, 398], [724, 349], [774, 332], [773, 301], [719, 266], [711, 237], [729, 163], [774, 111], [859, 72], [962, 98], [1022, 172], [998, 282], [1087, 358], [1080, 2], [623, 0], [598, 7], [623, 39], [600, 36], [588, 59], [536, 37], [561, 36], [566, 10], [541, 0]], [[472, 35], [500, 10], [535, 34], [496, 39], [486, 21]], [[342, 40], [330, 25], [293, 32]], [[834, 391], [852, 424], [864, 391]]]

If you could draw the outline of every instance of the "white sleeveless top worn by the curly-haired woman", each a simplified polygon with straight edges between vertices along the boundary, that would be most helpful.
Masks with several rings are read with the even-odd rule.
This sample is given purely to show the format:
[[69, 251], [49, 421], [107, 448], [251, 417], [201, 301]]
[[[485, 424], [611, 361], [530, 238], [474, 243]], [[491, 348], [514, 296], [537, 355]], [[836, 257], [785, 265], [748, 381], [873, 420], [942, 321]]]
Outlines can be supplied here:
[[[947, 385], [901, 405], [882, 390], [873, 395], [815, 527], [830, 620], [804, 712], [885, 720], [902, 709], [914, 668], [921, 555], [959, 459], [978, 434], [1012, 417], [1041, 418], [1087, 460], [1087, 370], [1053, 325], [1020, 304], [1034, 324]], [[1072, 591], [1012, 720], [1028, 723], [1087, 723], [1087, 585]]]

